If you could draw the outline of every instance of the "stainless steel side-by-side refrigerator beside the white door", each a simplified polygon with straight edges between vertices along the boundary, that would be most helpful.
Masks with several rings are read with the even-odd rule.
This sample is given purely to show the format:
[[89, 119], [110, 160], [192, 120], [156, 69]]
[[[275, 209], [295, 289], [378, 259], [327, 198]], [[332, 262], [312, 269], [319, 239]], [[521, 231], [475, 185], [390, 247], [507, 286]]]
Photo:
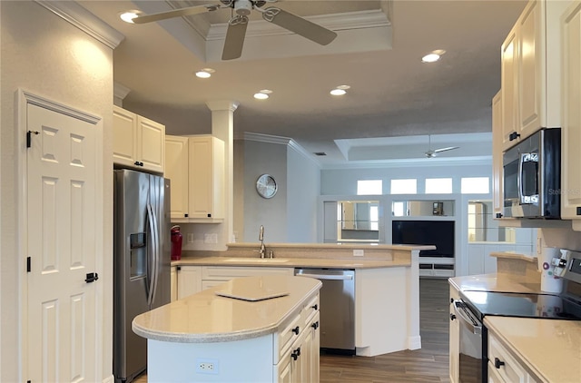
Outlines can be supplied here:
[[113, 375], [130, 382], [147, 368], [147, 341], [133, 333], [133, 318], [170, 302], [170, 181], [113, 173]]

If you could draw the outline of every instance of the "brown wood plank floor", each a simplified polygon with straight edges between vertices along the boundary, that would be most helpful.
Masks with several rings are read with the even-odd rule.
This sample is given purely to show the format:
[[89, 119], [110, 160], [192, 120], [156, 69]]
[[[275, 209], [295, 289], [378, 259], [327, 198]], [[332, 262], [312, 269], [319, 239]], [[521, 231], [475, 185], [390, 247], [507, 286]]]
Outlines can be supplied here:
[[[421, 279], [419, 332], [422, 348], [371, 358], [323, 354], [320, 356], [320, 383], [449, 382], [448, 320], [448, 280]], [[147, 375], [143, 374], [134, 382], [147, 383]]]

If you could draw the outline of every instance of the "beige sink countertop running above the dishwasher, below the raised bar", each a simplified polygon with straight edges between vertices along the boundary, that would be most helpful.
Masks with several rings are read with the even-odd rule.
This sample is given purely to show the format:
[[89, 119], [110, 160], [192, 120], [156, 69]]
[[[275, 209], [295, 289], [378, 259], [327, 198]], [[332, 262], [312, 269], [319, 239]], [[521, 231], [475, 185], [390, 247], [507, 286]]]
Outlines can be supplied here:
[[330, 258], [184, 257], [172, 266], [268, 266], [279, 268], [378, 269], [410, 266], [411, 260], [336, 260]]

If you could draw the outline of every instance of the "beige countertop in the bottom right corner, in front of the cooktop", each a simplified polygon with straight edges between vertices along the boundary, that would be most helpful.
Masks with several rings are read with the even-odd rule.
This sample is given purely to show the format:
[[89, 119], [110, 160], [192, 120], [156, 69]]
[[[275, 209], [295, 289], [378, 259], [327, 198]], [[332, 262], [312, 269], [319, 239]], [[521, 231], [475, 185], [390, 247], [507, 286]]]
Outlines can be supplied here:
[[581, 381], [581, 321], [489, 316], [484, 323], [537, 378]]

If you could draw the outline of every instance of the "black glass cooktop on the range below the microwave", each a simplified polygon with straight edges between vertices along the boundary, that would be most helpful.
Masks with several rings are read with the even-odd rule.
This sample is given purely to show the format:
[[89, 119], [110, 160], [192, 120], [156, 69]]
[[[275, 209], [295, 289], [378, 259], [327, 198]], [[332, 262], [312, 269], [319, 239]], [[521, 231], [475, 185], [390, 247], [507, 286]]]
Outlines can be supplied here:
[[483, 319], [487, 315], [581, 320], [581, 302], [554, 294], [461, 291], [462, 300]]

